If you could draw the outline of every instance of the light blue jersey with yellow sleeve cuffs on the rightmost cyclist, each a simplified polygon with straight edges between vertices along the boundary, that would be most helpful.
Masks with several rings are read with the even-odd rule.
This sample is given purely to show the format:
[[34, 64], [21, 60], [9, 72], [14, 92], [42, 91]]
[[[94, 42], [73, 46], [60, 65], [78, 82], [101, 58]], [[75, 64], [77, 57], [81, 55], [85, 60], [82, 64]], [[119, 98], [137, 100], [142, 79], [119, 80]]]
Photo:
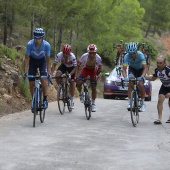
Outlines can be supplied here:
[[129, 65], [130, 67], [132, 67], [132, 68], [134, 68], [136, 70], [139, 70], [139, 69], [143, 68], [142, 64], [146, 64], [146, 58], [143, 55], [143, 53], [140, 52], [140, 51], [137, 51], [135, 60], [129, 55], [129, 53], [127, 53], [124, 56], [124, 62], [123, 62], [124, 66]]

